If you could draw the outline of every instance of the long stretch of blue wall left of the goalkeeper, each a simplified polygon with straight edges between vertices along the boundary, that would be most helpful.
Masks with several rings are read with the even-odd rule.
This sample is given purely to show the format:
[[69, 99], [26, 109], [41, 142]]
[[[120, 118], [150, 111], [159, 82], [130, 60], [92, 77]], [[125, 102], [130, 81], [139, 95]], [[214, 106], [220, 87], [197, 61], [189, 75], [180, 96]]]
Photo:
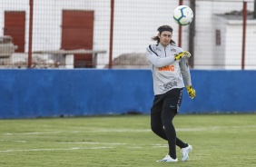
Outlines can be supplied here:
[[153, 99], [147, 70], [0, 70], [0, 85], [0, 118], [148, 113]]

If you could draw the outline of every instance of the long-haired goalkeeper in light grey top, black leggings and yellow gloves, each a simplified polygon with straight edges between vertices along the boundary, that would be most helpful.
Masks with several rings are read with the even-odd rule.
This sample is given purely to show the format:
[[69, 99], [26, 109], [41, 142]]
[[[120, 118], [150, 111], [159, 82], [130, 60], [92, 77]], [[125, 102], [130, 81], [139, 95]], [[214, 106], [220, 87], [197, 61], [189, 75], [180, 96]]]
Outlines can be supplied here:
[[168, 141], [169, 153], [158, 162], [178, 162], [176, 145], [181, 148], [182, 161], [189, 158], [192, 146], [176, 137], [172, 120], [182, 103], [182, 89], [186, 86], [189, 96], [196, 96], [192, 88], [191, 74], [186, 62], [189, 52], [175, 46], [172, 41], [172, 27], [160, 26], [157, 36], [146, 49], [146, 56], [153, 73], [154, 100], [151, 109], [151, 128], [153, 133]]

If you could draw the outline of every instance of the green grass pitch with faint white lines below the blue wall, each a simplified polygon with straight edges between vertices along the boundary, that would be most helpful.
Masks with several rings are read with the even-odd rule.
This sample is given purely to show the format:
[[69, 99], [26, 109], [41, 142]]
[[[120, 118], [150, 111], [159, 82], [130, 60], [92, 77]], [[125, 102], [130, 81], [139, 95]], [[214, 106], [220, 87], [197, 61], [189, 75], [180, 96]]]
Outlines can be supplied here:
[[[156, 162], [167, 143], [149, 115], [0, 120], [0, 166], [158, 167], [256, 166], [256, 114], [177, 115], [174, 124], [193, 146], [188, 162]], [[180, 149], [177, 155], [181, 160]]]

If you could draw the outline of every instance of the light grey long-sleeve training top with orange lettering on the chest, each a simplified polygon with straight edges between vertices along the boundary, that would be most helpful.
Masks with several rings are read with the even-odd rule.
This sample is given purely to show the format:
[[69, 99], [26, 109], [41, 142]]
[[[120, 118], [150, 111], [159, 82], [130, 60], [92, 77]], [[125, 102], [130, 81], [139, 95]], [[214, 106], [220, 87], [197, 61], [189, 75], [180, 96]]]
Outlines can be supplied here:
[[155, 95], [166, 93], [174, 88], [192, 85], [187, 62], [182, 58], [175, 61], [174, 54], [183, 50], [172, 44], [151, 44], [146, 49], [146, 56], [153, 73], [153, 92]]

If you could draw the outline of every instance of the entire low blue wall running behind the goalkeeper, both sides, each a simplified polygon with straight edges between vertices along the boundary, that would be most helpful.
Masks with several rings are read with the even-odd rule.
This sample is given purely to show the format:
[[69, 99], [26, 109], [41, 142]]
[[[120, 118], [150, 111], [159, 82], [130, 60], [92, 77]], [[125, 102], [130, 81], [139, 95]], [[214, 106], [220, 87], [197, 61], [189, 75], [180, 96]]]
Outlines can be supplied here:
[[[256, 71], [192, 70], [180, 113], [252, 113]], [[0, 70], [0, 118], [150, 113], [149, 70]]]

